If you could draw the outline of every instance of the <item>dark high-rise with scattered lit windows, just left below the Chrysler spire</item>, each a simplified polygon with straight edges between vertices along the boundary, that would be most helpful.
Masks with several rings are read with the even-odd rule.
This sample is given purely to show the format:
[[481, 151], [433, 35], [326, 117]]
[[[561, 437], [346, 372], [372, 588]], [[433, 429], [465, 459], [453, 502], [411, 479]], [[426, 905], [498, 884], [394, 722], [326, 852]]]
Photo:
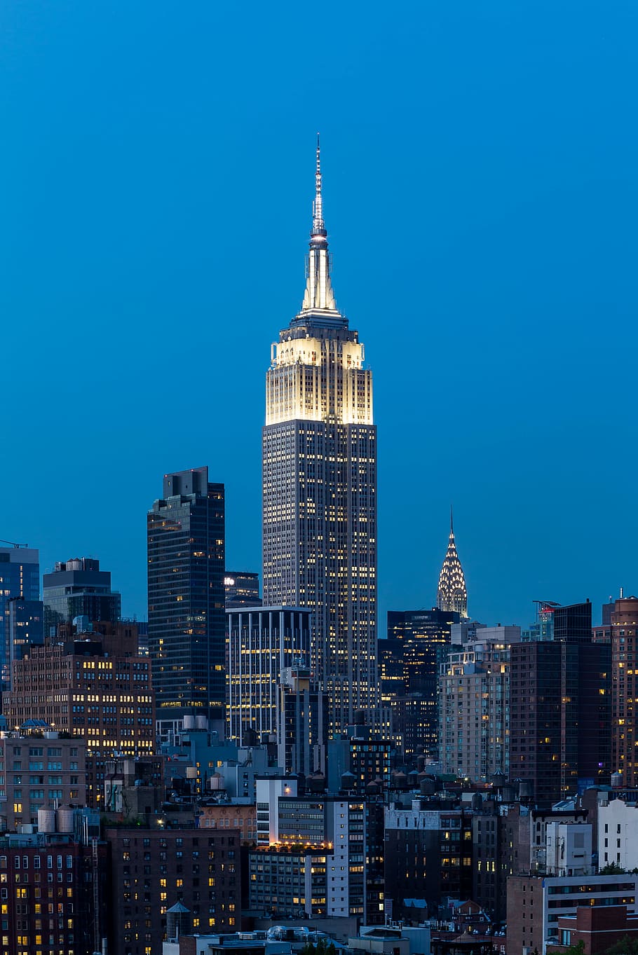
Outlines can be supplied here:
[[438, 751], [437, 678], [450, 647], [454, 610], [389, 610], [388, 639], [379, 640], [381, 700], [393, 714], [393, 734], [405, 758], [416, 747]]

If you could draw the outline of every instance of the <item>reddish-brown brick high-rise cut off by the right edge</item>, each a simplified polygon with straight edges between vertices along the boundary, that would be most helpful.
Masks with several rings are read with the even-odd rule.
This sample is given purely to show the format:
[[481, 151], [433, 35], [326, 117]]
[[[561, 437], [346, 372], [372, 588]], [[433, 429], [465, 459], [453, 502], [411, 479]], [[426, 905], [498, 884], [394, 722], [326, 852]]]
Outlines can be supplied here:
[[612, 769], [624, 787], [638, 786], [638, 597], [621, 597], [611, 612]]

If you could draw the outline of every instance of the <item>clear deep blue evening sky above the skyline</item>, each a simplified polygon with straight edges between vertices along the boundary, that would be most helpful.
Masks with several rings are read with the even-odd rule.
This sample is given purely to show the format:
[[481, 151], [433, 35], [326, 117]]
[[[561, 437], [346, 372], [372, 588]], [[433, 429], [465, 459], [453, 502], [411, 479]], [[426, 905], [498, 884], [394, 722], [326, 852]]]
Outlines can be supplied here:
[[0, 537], [145, 617], [164, 472], [260, 569], [270, 343], [322, 135], [337, 304], [379, 429], [380, 632], [638, 591], [633, 2], [0, 5]]

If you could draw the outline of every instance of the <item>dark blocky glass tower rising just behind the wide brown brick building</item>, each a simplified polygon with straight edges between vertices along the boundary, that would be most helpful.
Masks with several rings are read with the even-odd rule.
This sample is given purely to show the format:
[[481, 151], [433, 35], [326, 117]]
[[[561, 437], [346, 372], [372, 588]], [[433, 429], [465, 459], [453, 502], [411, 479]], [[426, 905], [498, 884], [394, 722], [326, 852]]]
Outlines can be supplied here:
[[42, 579], [44, 635], [55, 637], [60, 624], [71, 624], [75, 617], [92, 620], [119, 620], [122, 599], [111, 588], [111, 571], [100, 570], [92, 557], [59, 561]]

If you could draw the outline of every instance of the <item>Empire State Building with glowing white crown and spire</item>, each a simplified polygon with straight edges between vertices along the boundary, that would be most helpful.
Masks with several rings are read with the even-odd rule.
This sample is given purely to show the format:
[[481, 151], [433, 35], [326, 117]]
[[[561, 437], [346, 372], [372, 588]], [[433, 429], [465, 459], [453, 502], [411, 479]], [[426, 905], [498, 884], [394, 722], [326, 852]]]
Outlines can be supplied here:
[[372, 371], [330, 281], [317, 143], [301, 311], [271, 347], [263, 444], [264, 602], [314, 611], [330, 731], [377, 706]]

